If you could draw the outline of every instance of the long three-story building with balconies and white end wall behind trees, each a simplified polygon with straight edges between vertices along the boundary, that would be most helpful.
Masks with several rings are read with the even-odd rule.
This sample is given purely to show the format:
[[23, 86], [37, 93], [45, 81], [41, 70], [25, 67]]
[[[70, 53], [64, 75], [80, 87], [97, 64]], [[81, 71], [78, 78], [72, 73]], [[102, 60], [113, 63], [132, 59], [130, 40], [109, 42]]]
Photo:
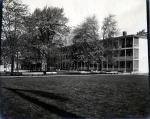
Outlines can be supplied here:
[[[95, 71], [117, 71], [127, 73], [148, 73], [148, 43], [147, 36], [127, 35], [100, 40], [104, 52], [109, 53], [101, 58], [102, 61], [78, 60], [74, 57], [73, 45], [58, 48], [57, 52], [50, 53], [47, 59], [47, 71], [56, 70], [95, 70]], [[77, 50], [80, 47], [77, 47]], [[84, 50], [84, 49], [82, 49]], [[111, 51], [111, 53], [110, 53]], [[73, 51], [74, 52], [74, 51]], [[82, 51], [81, 51], [82, 52]], [[53, 55], [52, 55], [53, 54]], [[83, 53], [84, 54], [84, 53]], [[76, 55], [76, 57], [78, 57]], [[42, 60], [34, 57], [27, 60], [21, 59], [19, 70], [42, 71]], [[11, 65], [9, 66], [10, 70]], [[2, 69], [2, 68], [1, 68]], [[6, 68], [4, 68], [6, 70]]]

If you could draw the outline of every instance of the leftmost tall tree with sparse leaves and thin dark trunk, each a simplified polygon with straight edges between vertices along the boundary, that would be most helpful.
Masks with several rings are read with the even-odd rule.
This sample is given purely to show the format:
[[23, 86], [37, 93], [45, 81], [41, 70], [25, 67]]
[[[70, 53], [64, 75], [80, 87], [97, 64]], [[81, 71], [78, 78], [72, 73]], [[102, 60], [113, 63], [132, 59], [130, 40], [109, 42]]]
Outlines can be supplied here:
[[14, 61], [18, 57], [20, 36], [23, 33], [23, 18], [28, 14], [27, 6], [19, 0], [4, 0], [3, 9], [3, 56], [11, 61], [11, 74], [14, 72]]

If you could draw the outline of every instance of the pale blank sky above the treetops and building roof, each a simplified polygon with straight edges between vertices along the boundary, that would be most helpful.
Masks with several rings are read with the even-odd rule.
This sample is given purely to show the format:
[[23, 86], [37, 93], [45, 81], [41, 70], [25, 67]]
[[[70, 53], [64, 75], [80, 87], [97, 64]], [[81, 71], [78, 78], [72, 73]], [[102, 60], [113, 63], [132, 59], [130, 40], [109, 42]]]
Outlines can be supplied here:
[[44, 6], [63, 7], [69, 25], [76, 26], [95, 15], [101, 27], [104, 17], [116, 15], [118, 27], [128, 34], [146, 29], [146, 0], [22, 0], [31, 12]]

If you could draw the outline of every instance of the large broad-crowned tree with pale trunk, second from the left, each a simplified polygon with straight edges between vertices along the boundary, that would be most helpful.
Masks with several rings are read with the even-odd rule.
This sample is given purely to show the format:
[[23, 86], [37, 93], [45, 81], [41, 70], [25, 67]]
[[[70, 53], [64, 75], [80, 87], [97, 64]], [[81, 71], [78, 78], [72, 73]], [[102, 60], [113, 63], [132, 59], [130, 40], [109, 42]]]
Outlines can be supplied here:
[[[63, 46], [66, 35], [69, 33], [67, 22], [64, 10], [56, 7], [36, 9], [26, 18], [25, 34], [30, 37], [28, 42], [31, 46], [40, 52], [43, 71], [47, 70], [47, 60], [53, 57], [52, 51], [55, 47]], [[31, 23], [32, 26], [30, 26]]]

